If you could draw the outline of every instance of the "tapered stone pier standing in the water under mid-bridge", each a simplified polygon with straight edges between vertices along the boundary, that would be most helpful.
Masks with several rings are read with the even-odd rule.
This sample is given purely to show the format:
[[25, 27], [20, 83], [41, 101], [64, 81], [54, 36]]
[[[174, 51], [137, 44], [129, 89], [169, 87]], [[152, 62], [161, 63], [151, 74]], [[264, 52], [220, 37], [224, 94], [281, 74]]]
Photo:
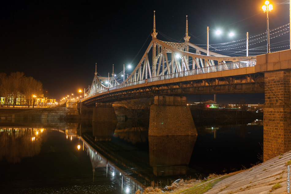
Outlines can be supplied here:
[[150, 107], [149, 135], [198, 135], [187, 98], [155, 96]]

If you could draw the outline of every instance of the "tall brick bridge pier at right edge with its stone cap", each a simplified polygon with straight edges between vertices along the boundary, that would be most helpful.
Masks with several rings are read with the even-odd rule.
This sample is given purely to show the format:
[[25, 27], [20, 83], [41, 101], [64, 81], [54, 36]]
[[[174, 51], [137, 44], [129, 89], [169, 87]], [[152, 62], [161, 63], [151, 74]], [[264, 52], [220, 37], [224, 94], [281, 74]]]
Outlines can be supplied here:
[[265, 74], [264, 161], [291, 150], [291, 50], [257, 56]]

